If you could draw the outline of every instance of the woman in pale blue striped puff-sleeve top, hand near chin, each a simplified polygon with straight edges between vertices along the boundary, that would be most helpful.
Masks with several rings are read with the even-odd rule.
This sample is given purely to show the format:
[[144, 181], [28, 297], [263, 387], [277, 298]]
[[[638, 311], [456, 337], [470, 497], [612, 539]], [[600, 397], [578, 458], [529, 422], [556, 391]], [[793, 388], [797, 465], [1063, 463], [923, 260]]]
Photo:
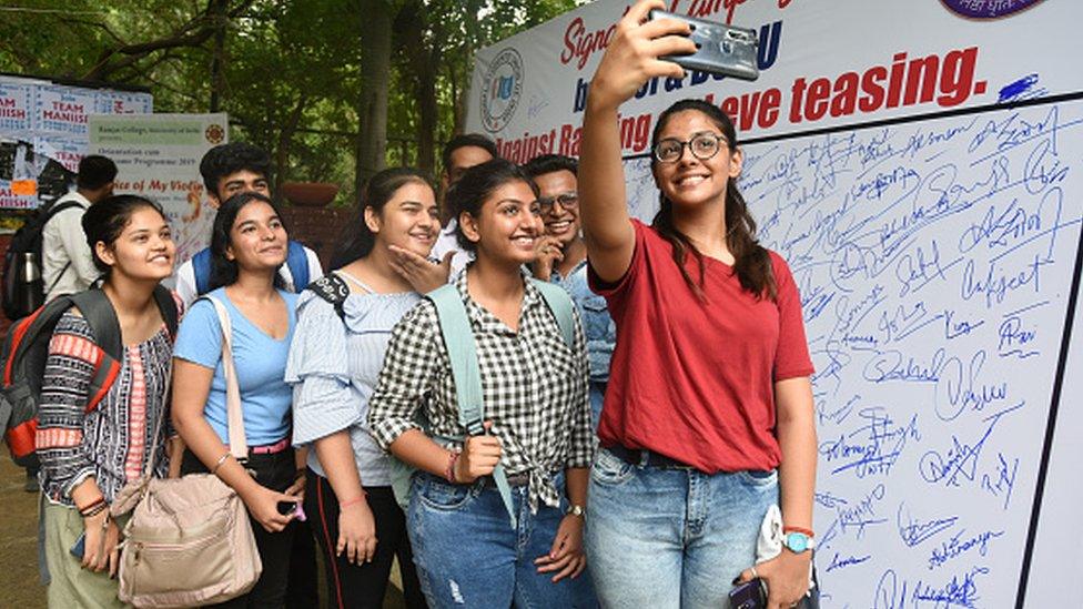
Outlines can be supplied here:
[[305, 511], [325, 552], [336, 607], [382, 607], [396, 556], [407, 607], [425, 607], [388, 457], [370, 436], [366, 417], [392, 328], [421, 301], [418, 292], [446, 283], [411, 283], [395, 267], [394, 248], [425, 258], [438, 231], [436, 194], [424, 175], [377, 173], [344, 232], [336, 255], [344, 265], [297, 303], [286, 365], [293, 441], [314, 446]]

